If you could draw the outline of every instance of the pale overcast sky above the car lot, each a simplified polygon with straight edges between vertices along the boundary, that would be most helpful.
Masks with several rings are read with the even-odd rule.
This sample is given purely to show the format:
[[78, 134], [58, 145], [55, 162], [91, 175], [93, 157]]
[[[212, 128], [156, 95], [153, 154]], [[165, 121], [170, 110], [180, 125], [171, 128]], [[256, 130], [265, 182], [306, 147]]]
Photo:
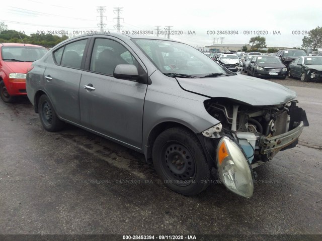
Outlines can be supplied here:
[[0, 22], [8, 25], [8, 29], [27, 35], [37, 31], [49, 33], [62, 30], [74, 36], [87, 31], [100, 31], [98, 7], [105, 7], [104, 31], [116, 32], [114, 8], [122, 8], [121, 33], [153, 31], [156, 36], [155, 26], [160, 26], [161, 31], [166, 26], [172, 26], [171, 39], [195, 47], [220, 44], [221, 41], [223, 44], [246, 44], [257, 35], [266, 38], [268, 47], [297, 47], [302, 45], [307, 31], [322, 27], [322, 4], [315, 0], [14, 0], [2, 3]]

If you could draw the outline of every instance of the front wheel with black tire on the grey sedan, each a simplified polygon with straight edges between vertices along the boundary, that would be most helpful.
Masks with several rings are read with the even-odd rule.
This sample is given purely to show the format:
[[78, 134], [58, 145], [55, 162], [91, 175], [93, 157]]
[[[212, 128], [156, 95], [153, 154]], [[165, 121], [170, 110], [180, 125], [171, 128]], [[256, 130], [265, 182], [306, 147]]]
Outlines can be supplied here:
[[210, 170], [198, 138], [184, 128], [161, 133], [152, 149], [153, 165], [163, 183], [183, 195], [196, 195], [209, 185]]

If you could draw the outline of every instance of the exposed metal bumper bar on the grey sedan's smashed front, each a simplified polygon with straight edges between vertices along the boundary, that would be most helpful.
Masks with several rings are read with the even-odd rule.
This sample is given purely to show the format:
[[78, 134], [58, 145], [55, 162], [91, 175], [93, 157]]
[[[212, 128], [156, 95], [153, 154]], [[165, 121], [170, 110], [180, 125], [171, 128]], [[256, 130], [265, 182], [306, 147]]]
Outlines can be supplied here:
[[266, 137], [262, 139], [260, 144], [260, 146], [262, 146], [261, 154], [278, 152], [281, 149], [291, 145], [293, 142], [298, 141], [298, 137], [301, 135], [303, 128], [304, 123], [301, 122], [298, 127], [289, 132], [275, 137]]

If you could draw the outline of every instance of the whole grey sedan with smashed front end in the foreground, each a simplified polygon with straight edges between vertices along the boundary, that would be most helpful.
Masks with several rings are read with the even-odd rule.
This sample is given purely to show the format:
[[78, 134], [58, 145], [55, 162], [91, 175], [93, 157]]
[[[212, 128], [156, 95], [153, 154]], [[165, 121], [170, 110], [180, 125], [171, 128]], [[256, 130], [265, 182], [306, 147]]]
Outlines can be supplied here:
[[294, 147], [308, 125], [294, 91], [169, 39], [77, 36], [32, 67], [27, 94], [44, 129], [70, 123], [144, 153], [184, 195], [219, 178], [251, 197], [253, 168]]

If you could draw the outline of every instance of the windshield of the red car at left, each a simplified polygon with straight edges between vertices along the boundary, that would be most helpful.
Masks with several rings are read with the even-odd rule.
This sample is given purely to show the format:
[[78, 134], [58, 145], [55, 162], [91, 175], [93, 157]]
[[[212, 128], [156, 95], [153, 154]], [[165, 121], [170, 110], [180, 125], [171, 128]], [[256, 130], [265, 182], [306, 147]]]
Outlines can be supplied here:
[[2, 59], [13, 62], [34, 62], [47, 52], [45, 48], [31, 46], [4, 46], [1, 49]]

